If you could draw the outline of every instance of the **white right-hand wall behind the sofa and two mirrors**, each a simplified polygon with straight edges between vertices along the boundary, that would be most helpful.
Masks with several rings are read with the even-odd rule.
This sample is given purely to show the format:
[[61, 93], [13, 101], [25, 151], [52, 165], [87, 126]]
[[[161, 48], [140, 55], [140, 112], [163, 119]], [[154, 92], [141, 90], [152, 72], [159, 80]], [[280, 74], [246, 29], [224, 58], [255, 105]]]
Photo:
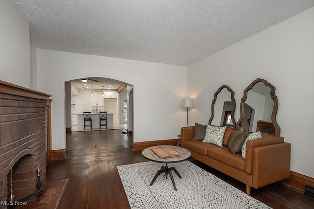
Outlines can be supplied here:
[[263, 78], [276, 87], [277, 122], [291, 143], [291, 170], [314, 177], [314, 7], [188, 67], [191, 121], [206, 124], [213, 94], [235, 91], [235, 121], [244, 89]]

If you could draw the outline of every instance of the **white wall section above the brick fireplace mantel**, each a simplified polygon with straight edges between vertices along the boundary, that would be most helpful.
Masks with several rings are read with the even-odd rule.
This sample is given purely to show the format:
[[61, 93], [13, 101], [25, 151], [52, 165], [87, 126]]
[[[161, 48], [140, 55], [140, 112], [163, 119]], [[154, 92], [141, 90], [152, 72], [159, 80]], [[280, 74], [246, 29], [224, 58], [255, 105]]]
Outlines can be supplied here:
[[12, 0], [0, 1], [0, 31], [0, 79], [29, 88], [29, 22]]

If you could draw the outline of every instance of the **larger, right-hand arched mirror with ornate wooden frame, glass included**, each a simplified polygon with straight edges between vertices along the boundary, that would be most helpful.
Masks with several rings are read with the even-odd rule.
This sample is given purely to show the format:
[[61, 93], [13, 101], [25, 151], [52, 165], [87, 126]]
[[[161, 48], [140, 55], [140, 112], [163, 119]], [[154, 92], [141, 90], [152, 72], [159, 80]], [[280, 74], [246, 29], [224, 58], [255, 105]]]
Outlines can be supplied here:
[[236, 129], [280, 136], [276, 121], [278, 99], [276, 88], [266, 80], [258, 78], [243, 93], [240, 103], [240, 118]]

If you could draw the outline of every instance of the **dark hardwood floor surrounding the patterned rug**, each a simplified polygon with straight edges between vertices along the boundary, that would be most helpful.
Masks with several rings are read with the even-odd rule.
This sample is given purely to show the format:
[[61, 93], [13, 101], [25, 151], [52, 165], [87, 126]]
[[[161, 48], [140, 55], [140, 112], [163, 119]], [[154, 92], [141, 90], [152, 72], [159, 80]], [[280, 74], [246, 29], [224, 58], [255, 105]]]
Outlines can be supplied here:
[[[125, 130], [67, 133], [66, 160], [47, 167], [47, 181], [68, 179], [58, 209], [128, 209], [117, 165], [146, 162], [141, 151], [132, 151]], [[245, 185], [209, 166], [190, 160], [245, 192]], [[314, 198], [281, 183], [252, 188], [251, 196], [274, 209], [314, 209]]]

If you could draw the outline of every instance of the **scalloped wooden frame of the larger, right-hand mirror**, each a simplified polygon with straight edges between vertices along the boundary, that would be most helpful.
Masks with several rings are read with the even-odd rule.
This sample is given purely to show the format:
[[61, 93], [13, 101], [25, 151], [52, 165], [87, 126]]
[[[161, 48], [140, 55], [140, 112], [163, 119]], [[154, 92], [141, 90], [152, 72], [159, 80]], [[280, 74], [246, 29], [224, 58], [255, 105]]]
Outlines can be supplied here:
[[259, 82], [262, 82], [266, 87], [269, 87], [270, 88], [270, 96], [274, 102], [274, 105], [273, 105], [273, 111], [272, 111], [272, 114], [271, 114], [271, 122], [273, 123], [273, 126], [275, 128], [275, 136], [276, 137], [279, 137], [280, 136], [280, 127], [277, 123], [277, 120], [276, 120], [276, 115], [277, 115], [277, 111], [278, 111], [278, 99], [277, 99], [277, 96], [275, 94], [275, 90], [276, 90], [276, 87], [274, 87], [273, 85], [271, 85], [268, 81], [262, 79], [262, 78], [258, 78], [256, 79], [255, 81], [253, 81], [243, 92], [243, 98], [241, 99], [241, 103], [240, 103], [240, 118], [238, 120], [238, 122], [236, 123], [236, 130], [239, 130], [240, 128], [240, 124], [243, 120], [243, 117], [244, 117], [244, 102], [246, 101], [247, 99], [247, 93], [250, 89], [252, 89], [254, 87], [255, 84], [259, 83]]

